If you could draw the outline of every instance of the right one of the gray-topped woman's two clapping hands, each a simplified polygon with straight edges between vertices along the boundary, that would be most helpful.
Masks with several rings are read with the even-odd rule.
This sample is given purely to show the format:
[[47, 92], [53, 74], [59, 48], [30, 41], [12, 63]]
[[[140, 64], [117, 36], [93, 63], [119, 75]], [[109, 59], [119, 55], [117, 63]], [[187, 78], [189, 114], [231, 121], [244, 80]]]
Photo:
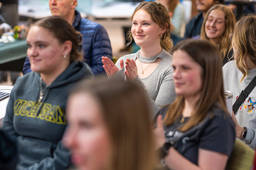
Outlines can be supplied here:
[[126, 59], [125, 69], [125, 77], [128, 82], [133, 81], [138, 76], [137, 66], [133, 59]]

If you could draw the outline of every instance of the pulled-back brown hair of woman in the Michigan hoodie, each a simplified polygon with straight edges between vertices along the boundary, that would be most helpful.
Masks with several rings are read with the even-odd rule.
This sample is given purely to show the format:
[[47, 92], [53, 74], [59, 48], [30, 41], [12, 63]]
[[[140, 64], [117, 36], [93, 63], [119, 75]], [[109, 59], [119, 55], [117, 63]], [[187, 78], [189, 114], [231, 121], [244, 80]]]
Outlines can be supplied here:
[[67, 40], [72, 42], [72, 50], [70, 51], [70, 61], [82, 60], [83, 56], [78, 51], [82, 41], [82, 35], [76, 31], [64, 18], [60, 16], [50, 16], [43, 18], [32, 26], [39, 26], [47, 29], [60, 42], [64, 43]]

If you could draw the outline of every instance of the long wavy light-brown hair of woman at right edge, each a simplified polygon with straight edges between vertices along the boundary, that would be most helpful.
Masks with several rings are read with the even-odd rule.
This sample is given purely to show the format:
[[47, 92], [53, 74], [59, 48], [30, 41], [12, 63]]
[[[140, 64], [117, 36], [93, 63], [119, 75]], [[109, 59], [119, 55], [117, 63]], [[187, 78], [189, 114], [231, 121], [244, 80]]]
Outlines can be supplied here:
[[249, 57], [250, 61], [256, 67], [256, 15], [248, 14], [242, 17], [235, 25], [233, 33], [233, 42], [236, 48], [234, 55], [236, 56], [236, 66], [242, 72], [241, 81], [249, 73], [244, 64], [245, 57]]

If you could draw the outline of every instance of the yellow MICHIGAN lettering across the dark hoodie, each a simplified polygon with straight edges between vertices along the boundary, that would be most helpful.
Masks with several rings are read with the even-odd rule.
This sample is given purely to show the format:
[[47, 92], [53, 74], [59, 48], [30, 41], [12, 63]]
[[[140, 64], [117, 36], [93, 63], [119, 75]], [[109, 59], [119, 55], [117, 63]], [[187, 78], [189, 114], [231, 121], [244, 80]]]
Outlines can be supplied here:
[[[39, 108], [41, 108], [40, 113]], [[27, 116], [42, 119], [47, 122], [66, 125], [66, 116], [64, 113], [64, 108], [61, 108], [58, 105], [52, 106], [49, 103], [17, 99], [14, 102], [13, 111], [15, 116]]]

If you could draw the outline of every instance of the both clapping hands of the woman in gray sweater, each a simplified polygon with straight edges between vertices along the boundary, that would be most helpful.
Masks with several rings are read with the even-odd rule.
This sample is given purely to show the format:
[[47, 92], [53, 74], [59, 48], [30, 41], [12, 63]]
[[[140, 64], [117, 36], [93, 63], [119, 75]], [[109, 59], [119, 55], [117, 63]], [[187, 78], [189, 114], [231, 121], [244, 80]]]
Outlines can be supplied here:
[[137, 66], [133, 59], [126, 59], [125, 65], [122, 59], [120, 59], [120, 69], [116, 67], [111, 59], [102, 56], [103, 68], [108, 75], [108, 78], [112, 77], [119, 70], [125, 67], [125, 77], [128, 82], [133, 81], [138, 76]]

